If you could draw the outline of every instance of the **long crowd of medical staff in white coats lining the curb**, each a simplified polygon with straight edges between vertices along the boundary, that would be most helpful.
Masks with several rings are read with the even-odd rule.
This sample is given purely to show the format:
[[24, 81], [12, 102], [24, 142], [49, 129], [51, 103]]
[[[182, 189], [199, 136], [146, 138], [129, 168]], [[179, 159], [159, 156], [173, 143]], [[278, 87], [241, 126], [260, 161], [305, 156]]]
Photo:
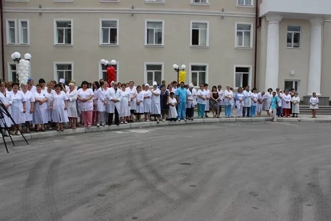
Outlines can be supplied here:
[[[82, 81], [79, 87], [74, 80], [65, 85], [64, 79], [46, 83], [41, 78], [36, 86], [31, 77], [23, 85], [2, 82], [0, 126], [11, 128], [11, 134], [19, 135], [19, 131], [30, 133], [31, 130], [38, 132], [53, 127], [63, 131], [64, 123], [68, 123], [68, 129], [76, 129], [80, 124], [86, 128], [93, 124], [97, 127], [112, 125], [113, 120], [116, 125], [141, 121], [187, 121], [194, 119], [196, 105], [198, 118], [207, 118], [209, 112], [213, 118], [219, 118], [222, 107], [226, 118], [233, 117], [234, 107], [238, 118], [260, 117], [262, 111], [266, 111], [267, 117], [277, 121], [277, 117], [298, 117], [299, 114], [300, 98], [294, 89], [284, 90], [284, 93], [279, 88], [258, 92], [247, 86], [239, 87], [235, 93], [229, 85], [224, 91], [220, 85], [212, 86], [211, 90], [208, 87], [208, 84], [201, 84], [197, 90], [192, 83], [180, 82], [178, 85], [173, 81], [167, 85], [164, 80], [161, 85], [154, 81], [151, 86], [134, 86], [133, 81], [126, 84], [112, 81], [108, 85], [106, 80], [100, 79], [93, 83]], [[318, 98], [315, 93], [310, 99], [310, 108], [316, 118]]]

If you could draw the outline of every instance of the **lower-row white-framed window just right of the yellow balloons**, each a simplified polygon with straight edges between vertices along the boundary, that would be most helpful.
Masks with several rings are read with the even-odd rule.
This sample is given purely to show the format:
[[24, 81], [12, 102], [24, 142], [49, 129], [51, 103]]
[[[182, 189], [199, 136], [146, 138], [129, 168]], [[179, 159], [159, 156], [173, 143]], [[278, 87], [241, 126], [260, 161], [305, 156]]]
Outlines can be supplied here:
[[200, 84], [208, 82], [208, 65], [207, 64], [190, 64], [189, 66], [189, 82], [192, 82], [196, 87]]

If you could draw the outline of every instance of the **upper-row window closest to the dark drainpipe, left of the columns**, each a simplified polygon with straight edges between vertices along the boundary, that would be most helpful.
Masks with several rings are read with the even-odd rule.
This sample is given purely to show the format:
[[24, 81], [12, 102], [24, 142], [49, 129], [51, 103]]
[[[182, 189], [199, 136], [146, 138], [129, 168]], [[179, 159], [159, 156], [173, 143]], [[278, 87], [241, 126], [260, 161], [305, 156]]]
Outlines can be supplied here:
[[236, 47], [253, 47], [253, 24], [236, 23]]

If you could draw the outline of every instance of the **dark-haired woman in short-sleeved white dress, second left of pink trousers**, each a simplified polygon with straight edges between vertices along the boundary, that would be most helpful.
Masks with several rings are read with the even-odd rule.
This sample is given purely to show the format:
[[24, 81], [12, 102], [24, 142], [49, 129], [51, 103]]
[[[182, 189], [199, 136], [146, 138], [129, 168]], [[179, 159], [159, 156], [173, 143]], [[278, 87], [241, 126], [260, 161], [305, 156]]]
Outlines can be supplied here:
[[[50, 103], [50, 108], [52, 108], [52, 120], [57, 123], [57, 131], [63, 131], [63, 123], [69, 122], [68, 119], [68, 97], [66, 93], [61, 91], [62, 85], [55, 85], [55, 93]], [[92, 107], [93, 108], [93, 107]]]

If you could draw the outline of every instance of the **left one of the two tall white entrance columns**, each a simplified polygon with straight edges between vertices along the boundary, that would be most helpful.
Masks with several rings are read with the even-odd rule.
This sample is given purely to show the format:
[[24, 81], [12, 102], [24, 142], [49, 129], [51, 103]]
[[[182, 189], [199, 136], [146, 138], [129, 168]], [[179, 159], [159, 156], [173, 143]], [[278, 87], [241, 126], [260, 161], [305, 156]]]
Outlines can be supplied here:
[[267, 15], [268, 36], [267, 36], [267, 63], [265, 70], [265, 89], [278, 87], [279, 75], [279, 22], [280, 15]]

